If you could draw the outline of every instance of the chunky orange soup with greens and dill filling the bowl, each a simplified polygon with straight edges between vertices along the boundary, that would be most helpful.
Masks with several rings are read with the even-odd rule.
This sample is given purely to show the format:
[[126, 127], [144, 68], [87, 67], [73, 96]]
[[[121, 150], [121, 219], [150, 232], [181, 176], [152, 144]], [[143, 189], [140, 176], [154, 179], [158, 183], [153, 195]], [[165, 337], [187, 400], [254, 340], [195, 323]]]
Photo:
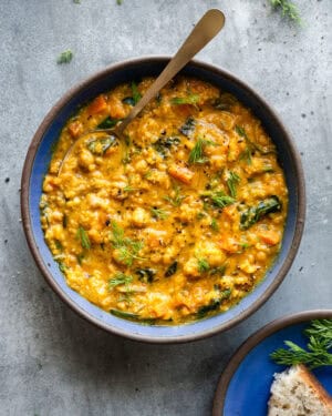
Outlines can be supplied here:
[[178, 78], [127, 128], [153, 79], [97, 97], [68, 121], [40, 202], [68, 284], [117, 316], [178, 324], [227, 311], [281, 245], [288, 191], [274, 145], [232, 95]]

